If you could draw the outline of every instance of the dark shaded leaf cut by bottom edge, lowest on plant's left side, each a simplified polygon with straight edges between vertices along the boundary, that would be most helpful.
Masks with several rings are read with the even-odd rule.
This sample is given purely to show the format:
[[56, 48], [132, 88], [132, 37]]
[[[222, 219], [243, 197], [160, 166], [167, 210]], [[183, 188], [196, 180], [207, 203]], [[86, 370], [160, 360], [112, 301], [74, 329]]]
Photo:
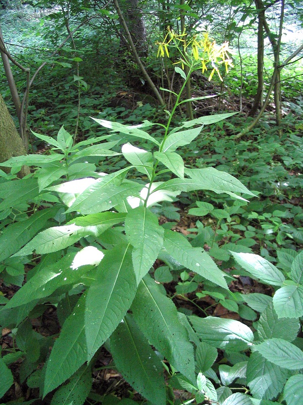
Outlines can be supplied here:
[[51, 405], [82, 405], [91, 390], [91, 369], [82, 366], [70, 381], [60, 387], [52, 398]]

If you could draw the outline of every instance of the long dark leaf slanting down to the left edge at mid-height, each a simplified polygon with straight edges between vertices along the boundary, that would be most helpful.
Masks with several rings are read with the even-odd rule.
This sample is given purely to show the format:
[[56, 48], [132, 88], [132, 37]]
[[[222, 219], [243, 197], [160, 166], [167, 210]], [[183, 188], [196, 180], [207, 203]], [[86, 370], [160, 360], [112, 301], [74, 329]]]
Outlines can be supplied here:
[[8, 225], [0, 236], [0, 262], [17, 252], [54, 217], [58, 208], [37, 211], [24, 221]]

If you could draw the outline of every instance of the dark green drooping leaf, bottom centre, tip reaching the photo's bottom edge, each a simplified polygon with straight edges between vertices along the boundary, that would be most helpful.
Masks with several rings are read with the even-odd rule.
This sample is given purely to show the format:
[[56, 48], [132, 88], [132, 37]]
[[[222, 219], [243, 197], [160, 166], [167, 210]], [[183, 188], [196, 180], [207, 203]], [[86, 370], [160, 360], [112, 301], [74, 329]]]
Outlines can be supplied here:
[[166, 404], [163, 367], [130, 314], [111, 337], [115, 365], [141, 395], [154, 405]]

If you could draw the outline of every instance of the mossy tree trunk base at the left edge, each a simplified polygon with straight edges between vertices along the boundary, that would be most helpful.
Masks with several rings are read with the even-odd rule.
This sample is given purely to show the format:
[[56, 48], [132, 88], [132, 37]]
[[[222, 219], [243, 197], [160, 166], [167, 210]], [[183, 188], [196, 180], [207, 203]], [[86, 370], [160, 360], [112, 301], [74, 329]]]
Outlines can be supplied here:
[[[0, 161], [4, 162], [13, 156], [25, 154], [22, 139], [0, 94]], [[6, 173], [10, 172], [10, 168], [2, 167], [1, 169]], [[29, 168], [23, 167], [18, 173], [18, 177], [23, 177], [27, 174], [29, 174]]]

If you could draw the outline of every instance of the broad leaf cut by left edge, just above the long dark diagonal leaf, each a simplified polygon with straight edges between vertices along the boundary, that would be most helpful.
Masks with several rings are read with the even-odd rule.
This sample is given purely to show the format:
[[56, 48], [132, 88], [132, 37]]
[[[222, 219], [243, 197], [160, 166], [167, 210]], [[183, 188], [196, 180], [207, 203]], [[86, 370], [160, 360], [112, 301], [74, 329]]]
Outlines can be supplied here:
[[20, 179], [0, 184], [0, 211], [24, 204], [36, 197], [39, 193], [36, 179]]

